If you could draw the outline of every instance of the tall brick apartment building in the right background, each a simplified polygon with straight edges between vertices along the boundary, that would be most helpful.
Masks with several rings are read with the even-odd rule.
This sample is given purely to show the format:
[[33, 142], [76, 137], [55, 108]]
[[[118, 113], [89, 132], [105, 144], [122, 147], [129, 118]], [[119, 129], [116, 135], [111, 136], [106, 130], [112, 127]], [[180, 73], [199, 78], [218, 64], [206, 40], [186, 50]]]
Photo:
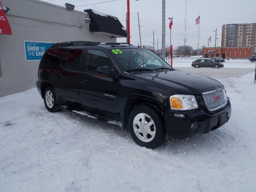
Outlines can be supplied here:
[[225, 24], [222, 26], [222, 47], [254, 47], [256, 54], [256, 23]]

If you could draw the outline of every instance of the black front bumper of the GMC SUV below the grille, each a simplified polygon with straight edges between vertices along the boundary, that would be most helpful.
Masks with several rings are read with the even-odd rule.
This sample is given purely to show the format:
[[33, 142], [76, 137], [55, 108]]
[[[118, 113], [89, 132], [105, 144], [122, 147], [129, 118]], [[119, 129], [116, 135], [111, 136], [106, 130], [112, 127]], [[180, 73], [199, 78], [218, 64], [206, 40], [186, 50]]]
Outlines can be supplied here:
[[[183, 114], [184, 117], [176, 117], [174, 114]], [[229, 99], [226, 107], [214, 114], [204, 112], [203, 110], [164, 111], [167, 132], [169, 137], [172, 138], [186, 138], [198, 134], [206, 134], [228, 122], [230, 115], [231, 104]], [[193, 122], [196, 122], [198, 125], [194, 131], [191, 130]]]

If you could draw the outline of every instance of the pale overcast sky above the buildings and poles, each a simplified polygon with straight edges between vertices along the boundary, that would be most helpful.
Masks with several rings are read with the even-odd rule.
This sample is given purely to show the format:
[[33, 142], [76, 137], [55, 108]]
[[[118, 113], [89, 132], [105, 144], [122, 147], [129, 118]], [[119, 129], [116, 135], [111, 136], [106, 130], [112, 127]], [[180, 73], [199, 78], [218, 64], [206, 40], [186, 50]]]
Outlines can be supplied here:
[[[64, 6], [65, 2], [75, 5], [74, 10], [97, 10], [116, 16], [126, 28], [127, 0], [44, 0], [46, 2]], [[111, 2], [106, 2], [111, 1]], [[105, 3], [100, 3], [105, 2]], [[185, 3], [186, 2], [186, 3]], [[98, 4], [95, 4], [98, 3]], [[93, 5], [88, 5], [93, 4]], [[184, 45], [185, 39], [185, 7], [186, 7], [186, 45], [193, 49], [198, 47], [198, 26], [196, 18], [200, 14], [199, 48], [208, 46], [211, 36], [211, 46], [214, 46], [217, 28], [218, 46], [221, 45], [223, 24], [256, 23], [256, 0], [166, 0], [166, 46], [170, 46], [170, 28], [168, 17], [173, 17], [172, 45], [174, 48]], [[131, 44], [138, 45], [139, 28], [138, 12], [140, 16], [140, 30], [142, 45], [153, 46], [153, 31], [155, 49], [162, 44], [162, 0], [130, 0], [130, 32]], [[118, 38], [118, 42], [126, 42], [125, 38]], [[217, 40], [216, 40], [217, 46]]]

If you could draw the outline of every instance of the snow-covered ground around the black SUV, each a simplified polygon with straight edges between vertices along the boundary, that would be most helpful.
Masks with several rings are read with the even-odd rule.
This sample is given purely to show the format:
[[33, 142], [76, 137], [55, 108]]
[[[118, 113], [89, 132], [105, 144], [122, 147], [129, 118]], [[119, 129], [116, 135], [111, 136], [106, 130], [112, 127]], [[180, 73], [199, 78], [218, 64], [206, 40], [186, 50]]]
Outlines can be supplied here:
[[48, 112], [36, 88], [0, 98], [0, 191], [256, 191], [254, 72], [217, 79], [232, 104], [229, 122], [155, 150], [126, 130]]

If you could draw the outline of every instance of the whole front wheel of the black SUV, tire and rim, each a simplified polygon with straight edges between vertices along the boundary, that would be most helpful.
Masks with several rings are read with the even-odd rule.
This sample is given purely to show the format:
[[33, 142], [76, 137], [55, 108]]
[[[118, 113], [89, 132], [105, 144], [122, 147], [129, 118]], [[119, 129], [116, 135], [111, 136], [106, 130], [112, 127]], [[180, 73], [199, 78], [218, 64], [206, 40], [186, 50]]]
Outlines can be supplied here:
[[158, 111], [149, 106], [136, 106], [130, 113], [128, 126], [136, 144], [154, 149], [167, 138], [166, 126]]

